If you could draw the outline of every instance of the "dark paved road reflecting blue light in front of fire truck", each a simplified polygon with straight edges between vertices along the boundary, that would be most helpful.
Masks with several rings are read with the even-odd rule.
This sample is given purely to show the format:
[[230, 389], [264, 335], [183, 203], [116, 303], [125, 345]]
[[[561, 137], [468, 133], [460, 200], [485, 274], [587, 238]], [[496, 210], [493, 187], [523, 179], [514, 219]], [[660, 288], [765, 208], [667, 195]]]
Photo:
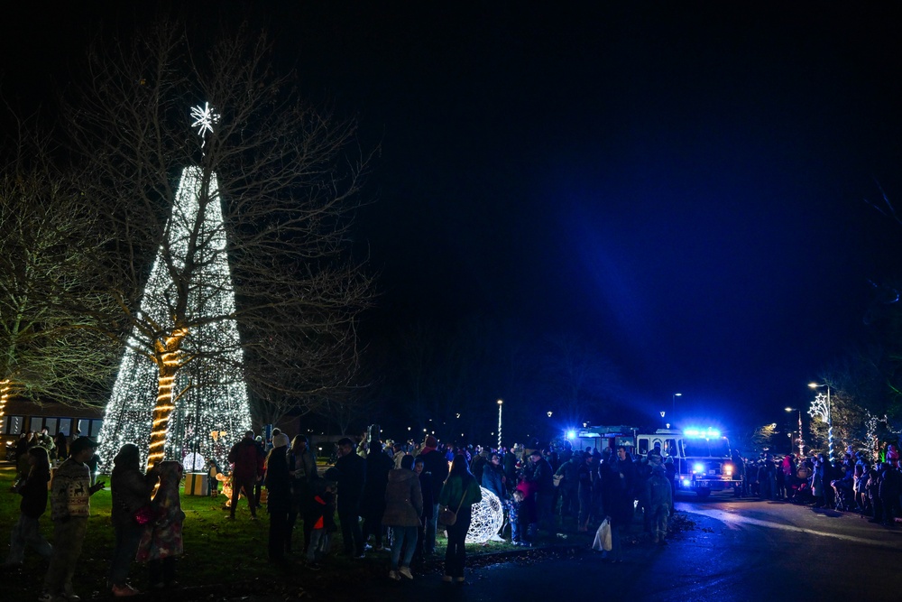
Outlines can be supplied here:
[[716, 495], [704, 501], [686, 497], [677, 509], [688, 513], [695, 529], [666, 547], [632, 544], [621, 564], [604, 563], [583, 549], [478, 568], [464, 587], [444, 584], [438, 575], [401, 583], [373, 579], [349, 584], [354, 593], [329, 597], [354, 602], [902, 600], [902, 529], [885, 529], [855, 514]]

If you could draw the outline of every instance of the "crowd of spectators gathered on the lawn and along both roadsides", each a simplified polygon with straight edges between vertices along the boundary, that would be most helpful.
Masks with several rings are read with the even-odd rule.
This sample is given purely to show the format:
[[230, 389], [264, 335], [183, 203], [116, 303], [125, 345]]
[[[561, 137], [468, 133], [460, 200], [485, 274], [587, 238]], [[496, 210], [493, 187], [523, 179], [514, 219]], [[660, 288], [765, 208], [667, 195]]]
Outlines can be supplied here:
[[[40, 435], [33, 439], [23, 450], [25, 469], [20, 467], [16, 485], [23, 497], [21, 514], [6, 565], [21, 565], [31, 547], [49, 560], [39, 600], [77, 600], [72, 576], [87, 531], [90, 496], [105, 487], [95, 482], [89, 465], [97, 442], [79, 436], [65, 441], [65, 451], [61, 441], [53, 443], [61, 463], [51, 482], [51, 545], [39, 529], [48, 506], [51, 449]], [[572, 449], [568, 442], [545, 449], [536, 442], [510, 449], [456, 447], [439, 444], [432, 435], [421, 443], [398, 444], [367, 432], [360, 440], [339, 440], [336, 448], [334, 465], [325, 469], [318, 468], [304, 435], [290, 440], [279, 429], [269, 441], [247, 431], [230, 449], [228, 518], [236, 519], [244, 495], [250, 519], [257, 520], [265, 487], [272, 563], [293, 566], [299, 561], [308, 570], [320, 570], [340, 529], [339, 553], [362, 559], [368, 551], [385, 552], [390, 579], [413, 579], [411, 565], [436, 553], [437, 533], [444, 529], [443, 581], [465, 584], [465, 538], [483, 489], [496, 495], [505, 511], [495, 539], [501, 540], [510, 527], [514, 545], [554, 539], [561, 530], [594, 533], [604, 521], [611, 527], [605, 560], [621, 561], [622, 542], [634, 522], [641, 522], [646, 541], [667, 543], [676, 469], [659, 446], [632, 458], [624, 446], [601, 451]], [[766, 454], [752, 462], [738, 454], [732, 459], [742, 477], [736, 495], [859, 512], [888, 525], [902, 516], [902, 474], [894, 445], [872, 464], [851, 449], [836, 463], [824, 454], [801, 461], [791, 454]], [[106, 579], [115, 597], [139, 593], [128, 582], [135, 560], [147, 564], [149, 588], [177, 586], [175, 559], [183, 552], [185, 518], [179, 502], [183, 468], [163, 461], [144, 472], [140, 461], [141, 450], [131, 443], [113, 460], [115, 549]], [[298, 523], [302, 527], [296, 532]]]

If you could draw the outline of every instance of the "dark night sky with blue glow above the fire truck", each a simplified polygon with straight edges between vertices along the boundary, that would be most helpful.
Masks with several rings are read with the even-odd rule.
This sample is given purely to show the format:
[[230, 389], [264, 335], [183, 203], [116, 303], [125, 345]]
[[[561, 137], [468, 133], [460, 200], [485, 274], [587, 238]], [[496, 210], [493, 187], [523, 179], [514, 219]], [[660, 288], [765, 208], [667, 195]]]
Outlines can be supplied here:
[[[267, 26], [381, 144], [372, 336], [473, 313], [578, 331], [637, 403], [782, 419], [899, 273], [902, 226], [864, 201], [902, 204], [897, 12], [550, 4], [190, 5]], [[5, 95], [64, 81], [99, 19], [150, 18], [106, 6], [5, 19]]]

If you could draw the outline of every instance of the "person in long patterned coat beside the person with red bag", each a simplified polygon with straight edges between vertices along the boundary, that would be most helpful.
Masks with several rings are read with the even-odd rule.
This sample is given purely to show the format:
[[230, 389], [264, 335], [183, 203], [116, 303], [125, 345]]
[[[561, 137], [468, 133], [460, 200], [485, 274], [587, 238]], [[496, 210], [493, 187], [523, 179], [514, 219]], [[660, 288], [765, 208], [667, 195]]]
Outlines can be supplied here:
[[[253, 439], [251, 442], [253, 444]], [[256, 448], [256, 444], [253, 445]], [[185, 551], [181, 536], [185, 513], [181, 511], [179, 499], [183, 468], [173, 460], [160, 462], [154, 468], [160, 473], [160, 487], [151, 503], [157, 519], [144, 528], [137, 560], [147, 562], [151, 588], [174, 588], [178, 585], [175, 581], [175, 559]]]

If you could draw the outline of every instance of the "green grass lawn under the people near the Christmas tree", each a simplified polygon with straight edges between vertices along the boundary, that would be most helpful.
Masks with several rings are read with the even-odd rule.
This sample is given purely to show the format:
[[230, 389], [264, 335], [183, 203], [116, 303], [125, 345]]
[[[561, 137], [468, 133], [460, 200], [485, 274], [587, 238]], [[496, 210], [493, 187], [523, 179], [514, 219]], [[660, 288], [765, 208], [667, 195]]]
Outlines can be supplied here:
[[[21, 496], [10, 492], [13, 485], [14, 467], [0, 464], [0, 538], [5, 542], [0, 546], [3, 560], [9, 550], [9, 533], [19, 516]], [[109, 477], [101, 477], [109, 486]], [[235, 586], [235, 593], [259, 591], [261, 588], [278, 590], [288, 596], [299, 596], [301, 591], [312, 593], [318, 586], [334, 587], [336, 576], [347, 582], [372, 575], [384, 577], [388, 573], [389, 559], [386, 553], [370, 553], [365, 560], [351, 560], [336, 556], [342, 549], [341, 533], [336, 533], [332, 542], [332, 554], [327, 558], [326, 570], [311, 572], [297, 562], [292, 562], [286, 570], [269, 563], [266, 542], [269, 532], [269, 516], [265, 509], [258, 513], [260, 520], [252, 522], [247, 503], [238, 504], [237, 520], [227, 520], [228, 511], [223, 510], [226, 498], [183, 495], [181, 507], [187, 515], [184, 525], [185, 554], [178, 560], [178, 579], [184, 588], [196, 586]], [[97, 492], [91, 497], [91, 517], [88, 519], [87, 538], [78, 571], [73, 581], [75, 591], [81, 597], [106, 596], [106, 571], [113, 551], [113, 526], [110, 523], [111, 497], [109, 489]], [[301, 525], [296, 526], [300, 533]], [[41, 533], [53, 542], [50, 507], [41, 516]], [[445, 540], [439, 533], [438, 558], [444, 558]], [[486, 545], [468, 546], [474, 554], [517, 550], [508, 543], [490, 542]], [[46, 561], [33, 551], [25, 552], [25, 564], [20, 571], [7, 572], [3, 579], [2, 599], [6, 602], [34, 600], [41, 592]], [[428, 565], [425, 570], [438, 570], [438, 563]], [[146, 570], [135, 564], [132, 570], [133, 584], [138, 588], [146, 586]]]

